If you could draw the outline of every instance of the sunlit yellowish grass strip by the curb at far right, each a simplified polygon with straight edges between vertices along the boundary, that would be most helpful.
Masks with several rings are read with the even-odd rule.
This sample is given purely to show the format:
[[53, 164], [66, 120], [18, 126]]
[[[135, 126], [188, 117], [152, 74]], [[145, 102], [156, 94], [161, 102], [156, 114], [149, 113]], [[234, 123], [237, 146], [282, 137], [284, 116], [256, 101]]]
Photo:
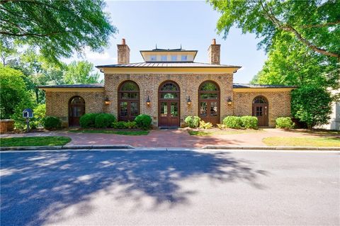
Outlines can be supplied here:
[[339, 137], [266, 137], [262, 141], [268, 146], [340, 147]]

